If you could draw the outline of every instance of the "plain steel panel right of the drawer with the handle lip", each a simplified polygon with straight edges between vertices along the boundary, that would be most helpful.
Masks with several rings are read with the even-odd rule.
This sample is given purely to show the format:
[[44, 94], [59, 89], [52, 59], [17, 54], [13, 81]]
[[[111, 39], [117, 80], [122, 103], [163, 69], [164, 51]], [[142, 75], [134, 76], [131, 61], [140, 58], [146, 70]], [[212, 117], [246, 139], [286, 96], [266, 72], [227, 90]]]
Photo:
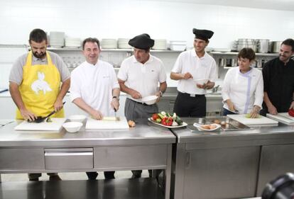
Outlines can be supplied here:
[[95, 168], [132, 168], [160, 166], [167, 164], [168, 149], [165, 144], [126, 147], [94, 148]]

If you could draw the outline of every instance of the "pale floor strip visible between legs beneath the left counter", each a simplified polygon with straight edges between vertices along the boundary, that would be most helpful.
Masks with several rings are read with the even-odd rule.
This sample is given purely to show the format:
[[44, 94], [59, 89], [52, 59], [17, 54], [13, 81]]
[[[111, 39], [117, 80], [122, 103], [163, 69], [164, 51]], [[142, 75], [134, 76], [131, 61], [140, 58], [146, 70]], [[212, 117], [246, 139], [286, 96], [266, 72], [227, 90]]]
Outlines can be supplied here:
[[[103, 172], [98, 172], [99, 175], [97, 179], [104, 179]], [[59, 173], [62, 180], [73, 181], [73, 180], [87, 180], [87, 175], [85, 172], [76, 173]], [[131, 178], [131, 171], [116, 171], [114, 174], [115, 178]], [[145, 170], [142, 173], [142, 177], [148, 177], [148, 171]], [[28, 174], [1, 174], [2, 182], [6, 181], [28, 181]], [[49, 176], [47, 174], [42, 174], [39, 178], [40, 181], [48, 181]]]

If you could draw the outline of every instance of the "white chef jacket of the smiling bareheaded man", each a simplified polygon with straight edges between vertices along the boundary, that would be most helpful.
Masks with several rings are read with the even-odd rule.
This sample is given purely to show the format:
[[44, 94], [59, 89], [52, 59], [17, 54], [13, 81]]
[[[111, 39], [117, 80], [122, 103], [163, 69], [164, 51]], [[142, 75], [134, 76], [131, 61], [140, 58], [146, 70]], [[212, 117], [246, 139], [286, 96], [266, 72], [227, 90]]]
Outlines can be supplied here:
[[119, 88], [114, 68], [111, 64], [98, 60], [97, 64], [83, 62], [72, 71], [70, 98], [82, 98], [87, 105], [99, 110], [104, 116], [114, 116], [111, 108], [112, 89]]

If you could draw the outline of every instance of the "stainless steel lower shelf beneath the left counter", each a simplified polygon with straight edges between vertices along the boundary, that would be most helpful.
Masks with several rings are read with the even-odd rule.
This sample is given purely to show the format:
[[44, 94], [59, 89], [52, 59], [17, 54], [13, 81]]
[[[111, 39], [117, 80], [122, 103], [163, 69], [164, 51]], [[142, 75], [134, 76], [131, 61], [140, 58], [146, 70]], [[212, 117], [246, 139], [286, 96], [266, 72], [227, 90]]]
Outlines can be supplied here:
[[155, 178], [99, 181], [2, 182], [2, 199], [163, 199]]

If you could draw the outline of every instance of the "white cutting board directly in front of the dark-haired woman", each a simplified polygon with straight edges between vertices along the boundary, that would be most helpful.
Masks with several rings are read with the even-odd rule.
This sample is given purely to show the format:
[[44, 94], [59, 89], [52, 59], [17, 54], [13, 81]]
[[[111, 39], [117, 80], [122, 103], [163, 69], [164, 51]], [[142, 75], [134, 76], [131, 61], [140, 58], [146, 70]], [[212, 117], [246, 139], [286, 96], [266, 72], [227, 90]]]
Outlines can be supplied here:
[[246, 114], [227, 115], [229, 118], [237, 120], [239, 123], [249, 126], [277, 126], [278, 122], [261, 115], [261, 118], [246, 118]]

